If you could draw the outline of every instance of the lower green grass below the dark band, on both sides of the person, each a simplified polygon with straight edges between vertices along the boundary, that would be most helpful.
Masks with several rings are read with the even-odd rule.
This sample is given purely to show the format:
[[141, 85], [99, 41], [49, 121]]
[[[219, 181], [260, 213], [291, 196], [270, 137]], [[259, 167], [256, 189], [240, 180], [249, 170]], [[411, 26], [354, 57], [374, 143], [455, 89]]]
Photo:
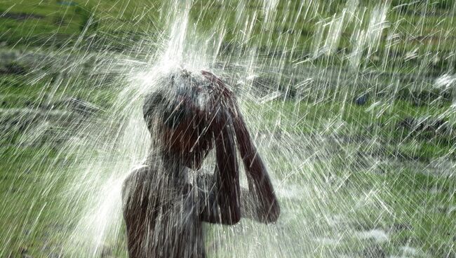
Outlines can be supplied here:
[[[27, 81], [31, 80], [20, 75], [2, 80], [4, 104], [1, 108], [27, 108], [52, 90], [44, 85], [36, 88]], [[100, 97], [105, 94], [102, 90], [97, 93], [89, 88], [87, 91], [83, 87], [73, 89], [77, 95], [71, 89], [60, 94], [109, 106], [107, 98]], [[324, 198], [311, 197], [312, 194], [318, 196], [319, 192], [307, 192], [311, 203], [300, 198], [283, 197], [283, 208], [297, 212], [295, 215], [303, 219], [321, 216], [320, 209], [328, 212], [326, 216], [343, 215], [347, 219], [343, 226], [334, 228], [314, 224], [309, 229], [310, 233], [307, 232], [311, 237], [297, 231], [302, 226], [300, 219], [292, 219], [285, 224], [288, 228], [286, 238], [273, 240], [269, 252], [278, 252], [274, 248], [285, 245], [294, 237], [304, 241], [302, 247], [315, 247], [321, 255], [328, 256], [339, 252], [368, 257], [366, 252], [371, 252], [371, 249], [374, 250], [372, 252], [380, 252], [376, 249], [379, 246], [381, 252], [399, 256], [405, 252], [404, 246], [409, 246], [416, 248], [416, 257], [452, 257], [456, 237], [452, 230], [456, 226], [454, 175], [445, 171], [450, 167], [442, 170], [433, 168], [431, 163], [439, 158], [449, 163], [455, 161], [454, 130], [448, 128], [443, 133], [436, 133], [437, 129], [433, 126], [417, 129], [401, 125], [406, 118], [431, 117], [449, 121], [453, 114], [448, 111], [452, 108], [450, 102], [441, 100], [440, 104], [416, 107], [414, 102], [400, 98], [382, 103], [383, 96], [373, 96], [362, 105], [355, 104], [351, 99], [334, 101], [329, 97], [323, 101], [316, 100], [309, 97], [299, 102], [241, 102], [256, 132], [281, 135], [281, 140], [275, 141], [277, 147], [262, 147], [269, 166], [276, 170], [276, 178], [286, 186], [326, 189]], [[281, 121], [279, 127], [276, 126], [278, 121]], [[1, 187], [5, 191], [1, 191], [0, 198], [8, 201], [1, 203], [0, 209], [0, 217], [4, 218], [0, 224], [1, 232], [4, 232], [0, 235], [4, 246], [1, 255], [58, 255], [62, 238], [67, 237], [65, 234], [74, 222], [68, 223], [67, 217], [55, 217], [55, 214], [61, 214], [62, 205], [67, 205], [60, 189], [65, 186], [66, 176], [53, 179], [53, 185], [49, 187], [49, 179], [53, 175], [49, 174], [52, 171], [48, 167], [65, 168], [65, 164], [71, 162], [59, 154], [58, 144], [46, 144], [45, 141], [36, 146], [19, 145], [24, 142], [19, 128], [4, 135], [2, 146], [9, 147], [2, 147]], [[315, 135], [326, 139], [323, 141], [326, 143], [317, 146], [322, 142], [313, 142], [311, 139]], [[296, 137], [302, 139], [302, 145], [297, 146], [299, 149], [313, 149], [308, 155], [317, 157], [299, 169], [295, 168], [297, 164], [293, 157], [285, 155], [278, 158], [274, 152], [274, 149], [283, 148], [281, 144], [288, 144]], [[331, 142], [331, 139], [336, 142]], [[328, 149], [328, 152], [321, 152], [321, 149]], [[322, 153], [321, 156], [319, 153]], [[306, 152], [301, 155], [303, 160], [308, 158]], [[38, 162], [30, 163], [32, 160]], [[358, 199], [359, 196], [366, 196], [363, 200], [367, 203], [360, 206], [360, 201], [363, 201]], [[302, 198], [305, 200], [305, 196]], [[318, 210], [314, 210], [315, 207]], [[250, 222], [244, 224], [256, 227]], [[342, 234], [348, 233], [349, 237], [331, 244], [316, 242], [315, 237], [325, 237], [325, 230], [339, 230]], [[375, 238], [366, 240], [360, 237], [362, 232], [372, 230], [386, 232], [389, 240], [377, 243]], [[215, 231], [218, 232], [216, 236], [220, 236], [220, 231], [222, 229]], [[248, 241], [252, 235], [246, 233], [240, 237]], [[237, 237], [234, 235], [232, 238]], [[106, 252], [114, 257], [125, 255], [123, 238], [119, 239], [107, 247]], [[246, 247], [238, 242], [222, 243], [224, 245], [240, 255]], [[208, 248], [210, 252], [226, 257], [226, 252]], [[261, 253], [260, 250], [258, 252]], [[290, 255], [298, 255], [302, 250], [298, 248], [293, 252], [290, 251]]]

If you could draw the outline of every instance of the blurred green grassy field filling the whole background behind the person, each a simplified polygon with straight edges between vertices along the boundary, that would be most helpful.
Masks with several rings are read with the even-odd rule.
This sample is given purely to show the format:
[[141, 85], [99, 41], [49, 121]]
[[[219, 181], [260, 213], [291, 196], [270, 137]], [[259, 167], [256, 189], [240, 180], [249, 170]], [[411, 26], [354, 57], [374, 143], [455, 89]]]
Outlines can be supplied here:
[[[277, 1], [276, 8], [267, 5], [274, 1], [193, 2], [189, 24], [198, 34], [224, 32], [222, 60], [255, 49], [259, 63], [267, 67], [274, 60], [267, 67], [276, 80], [271, 88], [288, 94], [255, 101], [255, 94], [239, 93], [274, 170], [283, 221], [271, 228], [243, 222], [250, 233], [214, 227], [210, 254], [456, 257], [455, 95], [451, 88], [420, 81], [456, 69], [456, 2], [384, 1], [389, 8], [387, 22], [380, 22], [380, 43], [366, 43], [353, 68], [359, 35], [379, 31], [370, 21], [382, 7], [377, 1], [356, 2]], [[69, 164], [83, 157], [61, 152], [62, 144], [72, 140], [68, 121], [81, 111], [62, 100], [93, 105], [102, 118], [116, 104], [123, 81], [116, 76], [97, 81], [92, 65], [100, 62], [82, 56], [125, 51], [123, 57], [135, 60], [131, 48], [138, 42], [163, 40], [173, 6], [174, 1], [161, 0], [0, 1], [0, 55], [58, 53], [60, 60], [71, 53], [83, 61], [74, 64], [72, 74], [65, 67], [69, 62], [49, 59], [34, 66], [25, 58], [0, 60], [0, 257], [60, 257], [77, 222], [69, 219], [72, 209], [65, 211], [71, 205], [65, 196], [67, 178], [74, 177]], [[343, 69], [333, 72], [333, 67]], [[388, 79], [374, 75], [378, 85], [358, 86], [351, 77], [347, 84], [338, 77], [353, 73], [357, 80], [370, 71]], [[281, 79], [274, 78], [278, 73]], [[334, 74], [336, 79], [326, 78]], [[320, 81], [305, 88], [306, 76]], [[393, 79], [398, 86], [391, 86]], [[46, 130], [29, 130], [36, 124]], [[63, 172], [54, 175], [54, 170]], [[289, 194], [287, 186], [298, 194]], [[343, 219], [330, 224], [335, 217]], [[283, 236], [271, 239], [264, 232]], [[217, 239], [227, 243], [217, 245]], [[253, 239], [271, 245], [246, 244]], [[126, 257], [123, 235], [107, 245], [97, 256]]]

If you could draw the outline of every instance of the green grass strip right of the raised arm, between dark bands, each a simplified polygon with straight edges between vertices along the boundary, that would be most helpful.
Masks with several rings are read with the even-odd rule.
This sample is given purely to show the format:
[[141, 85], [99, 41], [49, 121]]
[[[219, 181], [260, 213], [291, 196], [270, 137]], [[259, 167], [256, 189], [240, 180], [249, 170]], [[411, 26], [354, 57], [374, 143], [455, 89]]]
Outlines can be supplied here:
[[[341, 90], [343, 91], [343, 90]], [[259, 130], [271, 130], [276, 121], [281, 121], [278, 130], [297, 134], [339, 135], [360, 138], [376, 138], [387, 148], [387, 154], [400, 158], [430, 161], [447, 156], [456, 158], [454, 148], [455, 125], [454, 111], [450, 102], [424, 104], [416, 107], [406, 100], [370, 100], [363, 106], [351, 100], [345, 102], [323, 100], [321, 102], [271, 102], [270, 104], [247, 104], [246, 109], [254, 109]], [[259, 116], [260, 115], [260, 116]], [[436, 128], [414, 130], [405, 128], [401, 123], [407, 118], [441, 119], [447, 121], [448, 129], [438, 133]], [[340, 125], [340, 126], [337, 126]], [[370, 146], [364, 151], [371, 152]]]

